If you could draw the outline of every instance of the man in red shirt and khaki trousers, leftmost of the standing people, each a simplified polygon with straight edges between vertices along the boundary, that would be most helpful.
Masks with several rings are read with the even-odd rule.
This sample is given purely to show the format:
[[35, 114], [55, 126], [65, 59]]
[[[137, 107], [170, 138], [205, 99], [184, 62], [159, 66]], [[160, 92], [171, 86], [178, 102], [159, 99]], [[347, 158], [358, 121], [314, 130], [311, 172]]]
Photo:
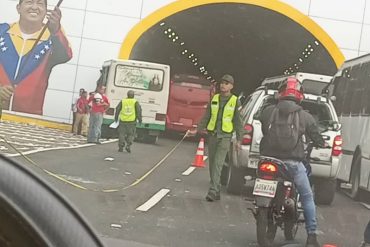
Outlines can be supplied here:
[[87, 92], [83, 90], [76, 102], [76, 119], [73, 124], [73, 134], [78, 134], [78, 127], [81, 124], [81, 135], [87, 136], [87, 118], [89, 114], [89, 101]]

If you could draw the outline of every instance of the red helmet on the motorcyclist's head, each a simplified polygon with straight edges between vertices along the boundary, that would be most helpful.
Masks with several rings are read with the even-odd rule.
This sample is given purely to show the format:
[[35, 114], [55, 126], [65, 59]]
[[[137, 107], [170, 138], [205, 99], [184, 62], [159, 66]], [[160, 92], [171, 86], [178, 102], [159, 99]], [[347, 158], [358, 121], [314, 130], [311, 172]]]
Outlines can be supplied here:
[[303, 87], [295, 77], [288, 77], [278, 88], [279, 99], [294, 100], [300, 103], [303, 98]]

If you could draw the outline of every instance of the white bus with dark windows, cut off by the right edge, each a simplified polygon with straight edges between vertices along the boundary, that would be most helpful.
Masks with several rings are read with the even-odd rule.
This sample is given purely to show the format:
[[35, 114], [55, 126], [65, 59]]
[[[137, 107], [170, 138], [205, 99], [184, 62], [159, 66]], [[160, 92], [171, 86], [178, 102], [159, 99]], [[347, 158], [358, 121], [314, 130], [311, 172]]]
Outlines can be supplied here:
[[349, 182], [357, 199], [370, 191], [370, 54], [346, 61], [333, 84], [343, 138], [337, 179]]

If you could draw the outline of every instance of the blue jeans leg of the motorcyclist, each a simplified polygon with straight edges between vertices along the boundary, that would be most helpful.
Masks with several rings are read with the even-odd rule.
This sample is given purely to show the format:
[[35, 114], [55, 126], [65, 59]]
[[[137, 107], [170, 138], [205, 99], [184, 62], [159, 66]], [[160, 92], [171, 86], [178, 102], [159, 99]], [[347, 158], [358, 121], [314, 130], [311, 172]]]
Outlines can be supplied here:
[[302, 162], [296, 160], [284, 160], [284, 163], [287, 165], [289, 173], [293, 177], [300, 195], [300, 201], [303, 206], [303, 214], [306, 221], [306, 231], [308, 234], [316, 233], [316, 206], [313, 200], [313, 194], [306, 168]]

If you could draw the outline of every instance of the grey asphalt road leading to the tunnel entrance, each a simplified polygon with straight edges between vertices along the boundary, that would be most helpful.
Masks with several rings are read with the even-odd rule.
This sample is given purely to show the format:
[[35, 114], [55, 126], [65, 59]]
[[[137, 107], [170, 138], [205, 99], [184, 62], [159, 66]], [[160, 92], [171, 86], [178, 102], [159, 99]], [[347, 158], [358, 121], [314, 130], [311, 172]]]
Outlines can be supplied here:
[[[46, 175], [22, 157], [13, 159], [30, 166], [64, 194], [108, 246], [257, 246], [250, 201], [223, 192], [221, 201], [207, 202], [208, 168], [182, 175], [194, 158], [195, 142], [183, 142], [144, 179], [122, 189], [138, 181], [178, 141], [161, 138], [157, 145], [135, 143], [131, 154], [119, 153], [117, 143], [108, 143], [28, 155], [43, 169], [92, 190], [119, 189], [112, 193], [78, 189]], [[163, 198], [145, 212], [137, 210], [159, 191]], [[369, 218], [368, 209], [337, 193], [332, 206], [318, 207], [319, 240], [357, 247]], [[303, 244], [305, 238], [304, 226], [300, 226], [297, 243]], [[276, 243], [284, 244], [281, 231]]]

